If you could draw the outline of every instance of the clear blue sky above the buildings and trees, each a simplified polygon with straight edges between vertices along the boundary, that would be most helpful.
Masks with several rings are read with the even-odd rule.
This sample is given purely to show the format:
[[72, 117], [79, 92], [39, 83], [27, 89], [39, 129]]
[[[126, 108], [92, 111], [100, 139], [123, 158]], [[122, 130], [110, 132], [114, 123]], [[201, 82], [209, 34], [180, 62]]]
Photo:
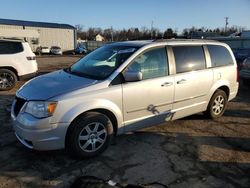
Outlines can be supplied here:
[[0, 18], [160, 30], [238, 25], [250, 29], [250, 0], [4, 0]]

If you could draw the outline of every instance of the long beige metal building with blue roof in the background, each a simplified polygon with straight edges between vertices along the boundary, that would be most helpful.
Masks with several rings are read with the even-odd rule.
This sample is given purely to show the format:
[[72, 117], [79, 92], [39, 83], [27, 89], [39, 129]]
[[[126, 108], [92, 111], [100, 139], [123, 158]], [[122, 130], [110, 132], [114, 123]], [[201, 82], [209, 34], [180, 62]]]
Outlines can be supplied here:
[[63, 51], [76, 47], [76, 29], [68, 24], [0, 19], [0, 38], [24, 38], [33, 51], [38, 46], [59, 46]]

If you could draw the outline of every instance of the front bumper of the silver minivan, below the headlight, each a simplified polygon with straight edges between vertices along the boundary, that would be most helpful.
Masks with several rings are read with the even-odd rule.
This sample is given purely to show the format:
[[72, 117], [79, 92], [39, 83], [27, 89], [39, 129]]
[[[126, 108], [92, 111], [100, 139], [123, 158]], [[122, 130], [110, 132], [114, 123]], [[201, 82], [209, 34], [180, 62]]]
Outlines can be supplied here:
[[50, 124], [50, 118], [37, 119], [20, 112], [15, 117], [11, 112], [17, 139], [26, 147], [35, 150], [56, 150], [65, 147], [65, 136], [69, 123]]

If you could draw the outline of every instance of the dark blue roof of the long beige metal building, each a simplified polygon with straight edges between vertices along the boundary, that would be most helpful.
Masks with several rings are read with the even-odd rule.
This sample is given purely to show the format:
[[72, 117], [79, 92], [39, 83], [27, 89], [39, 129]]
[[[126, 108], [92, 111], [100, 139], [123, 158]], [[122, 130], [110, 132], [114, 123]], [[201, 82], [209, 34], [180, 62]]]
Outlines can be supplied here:
[[29, 26], [29, 27], [75, 29], [75, 27], [73, 27], [72, 25], [69, 25], [69, 24], [34, 22], [34, 21], [23, 21], [23, 20], [10, 20], [10, 19], [2, 19], [2, 18], [0, 18], [0, 25], [18, 25], [18, 26]]

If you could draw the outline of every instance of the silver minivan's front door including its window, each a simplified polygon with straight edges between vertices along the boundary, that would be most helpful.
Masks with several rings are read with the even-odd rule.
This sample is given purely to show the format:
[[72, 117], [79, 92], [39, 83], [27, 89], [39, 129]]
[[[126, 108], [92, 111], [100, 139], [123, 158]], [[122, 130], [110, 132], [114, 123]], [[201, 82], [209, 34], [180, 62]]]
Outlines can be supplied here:
[[166, 48], [153, 48], [137, 56], [126, 71], [140, 71], [142, 80], [123, 89], [125, 131], [165, 122], [171, 117], [174, 76], [169, 76]]

